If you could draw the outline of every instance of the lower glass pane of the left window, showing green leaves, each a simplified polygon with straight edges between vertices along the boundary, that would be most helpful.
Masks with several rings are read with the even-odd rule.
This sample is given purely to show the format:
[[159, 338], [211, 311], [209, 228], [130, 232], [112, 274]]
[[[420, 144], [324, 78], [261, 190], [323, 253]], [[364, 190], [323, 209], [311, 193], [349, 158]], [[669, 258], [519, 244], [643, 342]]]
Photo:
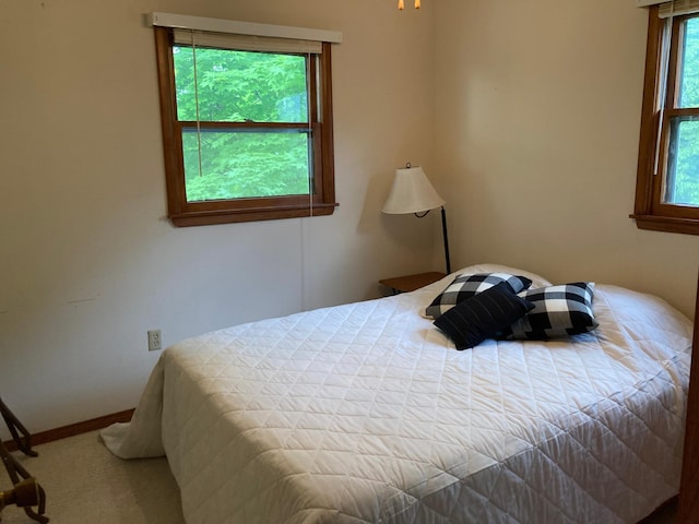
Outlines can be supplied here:
[[188, 202], [309, 193], [307, 133], [188, 128], [182, 148]]

